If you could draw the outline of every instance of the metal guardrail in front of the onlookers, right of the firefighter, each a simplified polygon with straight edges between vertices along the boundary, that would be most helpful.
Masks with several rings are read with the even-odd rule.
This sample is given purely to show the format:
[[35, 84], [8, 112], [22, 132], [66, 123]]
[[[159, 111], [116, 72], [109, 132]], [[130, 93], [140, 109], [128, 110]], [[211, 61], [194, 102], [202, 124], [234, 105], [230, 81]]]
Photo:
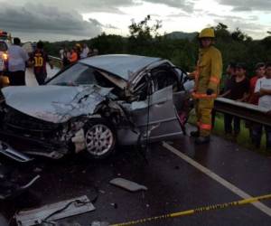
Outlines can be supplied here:
[[269, 110], [266, 108], [232, 99], [218, 98], [215, 100], [214, 109], [271, 127], [271, 115], [267, 114]]

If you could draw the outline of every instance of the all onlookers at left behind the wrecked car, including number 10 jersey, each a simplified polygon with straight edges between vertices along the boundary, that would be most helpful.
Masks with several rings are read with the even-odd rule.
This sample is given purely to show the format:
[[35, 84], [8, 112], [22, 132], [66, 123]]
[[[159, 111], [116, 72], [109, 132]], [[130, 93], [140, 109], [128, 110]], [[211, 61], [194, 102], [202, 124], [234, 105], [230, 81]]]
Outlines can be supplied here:
[[[39, 85], [43, 85], [47, 78], [46, 64], [49, 63], [51, 69], [52, 62], [47, 52], [43, 50], [43, 42], [34, 42], [28, 52], [21, 46], [21, 40], [14, 38], [7, 50], [8, 63], [4, 71], [0, 71], [0, 88], [7, 85], [25, 85], [25, 68], [33, 67], [33, 73]], [[63, 47], [60, 51], [62, 67], [79, 61], [89, 56], [98, 55], [97, 49], [91, 49], [87, 43], [77, 43], [73, 48]], [[3, 75], [5, 73], [5, 75]]]

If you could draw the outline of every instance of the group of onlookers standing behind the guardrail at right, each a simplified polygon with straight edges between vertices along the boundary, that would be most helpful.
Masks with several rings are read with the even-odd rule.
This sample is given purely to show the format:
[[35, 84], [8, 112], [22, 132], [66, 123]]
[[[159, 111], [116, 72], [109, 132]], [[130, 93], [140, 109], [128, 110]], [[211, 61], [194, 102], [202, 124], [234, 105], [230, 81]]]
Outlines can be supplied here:
[[[271, 110], [271, 62], [258, 62], [255, 66], [255, 75], [250, 80], [244, 63], [231, 62], [223, 79], [220, 97], [248, 102]], [[271, 151], [271, 127], [263, 127], [251, 121], [246, 121], [246, 127], [255, 147], [260, 146], [263, 128], [265, 128], [266, 149]], [[225, 114], [224, 129], [226, 137], [238, 137], [240, 118]]]

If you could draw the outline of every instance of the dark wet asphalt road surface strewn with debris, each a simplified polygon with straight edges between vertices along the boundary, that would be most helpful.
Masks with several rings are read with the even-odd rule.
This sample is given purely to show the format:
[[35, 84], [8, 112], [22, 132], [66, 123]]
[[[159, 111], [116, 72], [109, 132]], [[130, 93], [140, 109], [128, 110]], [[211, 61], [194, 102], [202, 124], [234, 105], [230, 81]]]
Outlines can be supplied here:
[[[262, 195], [271, 191], [270, 158], [229, 143], [220, 137], [212, 137], [210, 145], [194, 146], [190, 137], [170, 142], [197, 163], [235, 185], [250, 195]], [[131, 221], [170, 212], [180, 212], [197, 207], [240, 200], [223, 184], [203, 174], [162, 144], [150, 146], [146, 159], [134, 148], [122, 148], [107, 161], [97, 162], [83, 156], [68, 156], [51, 161], [38, 159], [28, 165], [5, 162], [14, 174], [41, 174], [42, 178], [13, 202], [2, 204], [2, 212], [12, 217], [22, 208], [88, 195], [97, 198], [96, 211], [84, 213], [68, 220], [89, 225], [92, 221], [117, 223]], [[1, 160], [2, 163], [5, 159]], [[109, 184], [122, 177], [148, 190], [131, 193]], [[267, 212], [270, 201], [263, 202]], [[139, 225], [271, 225], [270, 217], [257, 207], [248, 204], [229, 209], [201, 212], [181, 218], [147, 222]]]

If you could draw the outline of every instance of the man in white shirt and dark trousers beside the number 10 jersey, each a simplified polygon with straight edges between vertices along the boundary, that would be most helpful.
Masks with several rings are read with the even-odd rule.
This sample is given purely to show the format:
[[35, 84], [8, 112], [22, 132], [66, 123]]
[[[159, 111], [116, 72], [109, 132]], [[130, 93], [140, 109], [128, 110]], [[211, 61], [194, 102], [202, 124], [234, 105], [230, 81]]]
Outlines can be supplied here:
[[21, 40], [14, 38], [14, 44], [8, 49], [8, 71], [11, 86], [25, 85], [25, 63], [29, 56], [20, 44]]

